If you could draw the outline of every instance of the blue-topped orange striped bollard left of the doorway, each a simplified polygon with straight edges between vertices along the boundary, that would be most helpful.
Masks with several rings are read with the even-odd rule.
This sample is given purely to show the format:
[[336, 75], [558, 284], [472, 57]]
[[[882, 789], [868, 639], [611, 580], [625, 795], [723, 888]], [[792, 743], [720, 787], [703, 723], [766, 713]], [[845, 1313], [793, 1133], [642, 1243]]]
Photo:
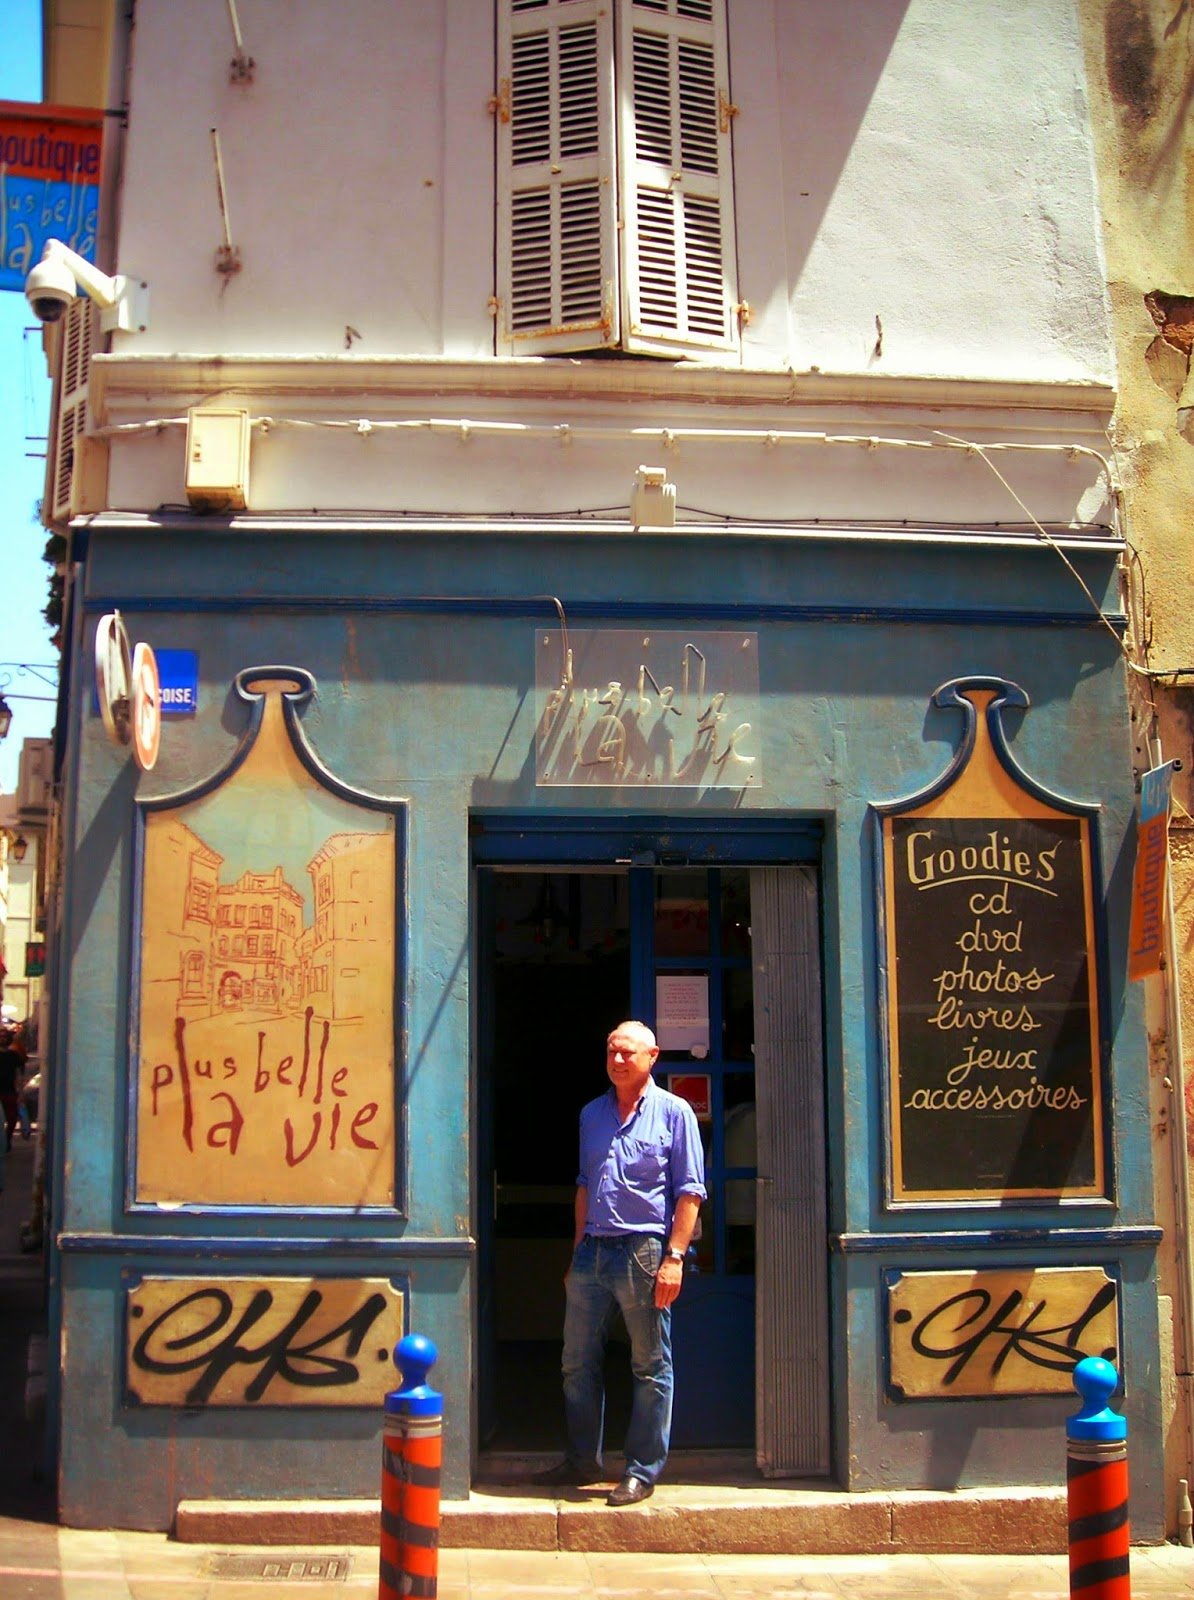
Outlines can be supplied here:
[[437, 1592], [443, 1395], [426, 1382], [437, 1354], [419, 1333], [394, 1346], [402, 1387], [386, 1395], [378, 1600]]

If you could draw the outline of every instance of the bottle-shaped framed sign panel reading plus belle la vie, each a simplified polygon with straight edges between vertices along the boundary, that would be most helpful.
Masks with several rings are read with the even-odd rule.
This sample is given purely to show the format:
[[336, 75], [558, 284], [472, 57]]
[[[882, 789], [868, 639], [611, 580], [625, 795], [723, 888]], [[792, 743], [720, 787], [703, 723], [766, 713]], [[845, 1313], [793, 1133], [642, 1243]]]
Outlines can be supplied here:
[[309, 672], [234, 688], [230, 762], [138, 802], [125, 1205], [402, 1214], [407, 803], [320, 763]]

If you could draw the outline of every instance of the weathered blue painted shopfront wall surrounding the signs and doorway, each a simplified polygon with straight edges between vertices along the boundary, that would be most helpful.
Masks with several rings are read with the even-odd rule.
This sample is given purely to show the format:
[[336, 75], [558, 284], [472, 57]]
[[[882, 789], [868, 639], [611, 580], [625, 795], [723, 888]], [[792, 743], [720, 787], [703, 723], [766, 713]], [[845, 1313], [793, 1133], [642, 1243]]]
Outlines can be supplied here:
[[[1071, 558], [1114, 616], [1117, 546]], [[613, 533], [546, 525], [296, 525], [224, 530], [179, 517], [91, 530], [75, 654], [74, 786], [59, 1037], [64, 1160], [58, 1262], [67, 1328], [61, 1389], [67, 1522], [165, 1526], [187, 1496], [362, 1496], [378, 1490], [378, 1419], [359, 1413], [128, 1411], [120, 1275], [203, 1270], [202, 1242], [237, 1272], [394, 1272], [411, 1325], [440, 1349], [445, 1491], [469, 1483], [472, 1386], [469, 816], [699, 810], [735, 797], [535, 786], [533, 638], [571, 622], [746, 627], [759, 634], [763, 782], [743, 808], [824, 822], [831, 1315], [837, 1474], [856, 1488], [1061, 1482], [1064, 1402], [893, 1405], [883, 1394], [882, 1272], [924, 1266], [1098, 1261], [1124, 1280], [1133, 1522], [1160, 1530], [1151, 1154], [1140, 995], [1125, 968], [1135, 754], [1117, 637], [1058, 555], [1031, 538], [840, 536], [827, 531]], [[130, 635], [195, 650], [200, 707], [168, 722], [152, 774], [136, 774], [91, 714], [90, 640], [118, 606]], [[322, 1226], [301, 1218], [138, 1216], [125, 1190], [134, 795], [184, 790], [230, 757], [245, 710], [237, 672], [309, 670], [304, 714], [319, 758], [344, 782], [410, 805], [408, 1218]], [[1106, 891], [1106, 1026], [1112, 1061], [1116, 1205], [991, 1211], [883, 1210], [882, 1051], [869, 805], [927, 787], [949, 763], [957, 714], [933, 691], [970, 674], [1020, 683], [1008, 715], [1020, 765], [1100, 805]], [[647, 803], [650, 802], [650, 803]], [[544, 1070], [549, 1064], [544, 1062]], [[1000, 1235], [992, 1237], [992, 1219]], [[1053, 1240], [1048, 1229], [1095, 1229]], [[1018, 1232], [1028, 1229], [1024, 1235]], [[1108, 1230], [1119, 1232], [1108, 1232]], [[959, 1253], [944, 1234], [975, 1230]], [[266, 1232], [269, 1245], [259, 1242]], [[168, 1243], [168, 1240], [178, 1243]], [[335, 1235], [335, 1238], [333, 1238]], [[891, 1248], [880, 1248], [885, 1235]], [[928, 1237], [925, 1237], [928, 1235]], [[195, 1258], [197, 1250], [205, 1256]], [[1156, 1461], [1152, 1459], [1156, 1454]]]

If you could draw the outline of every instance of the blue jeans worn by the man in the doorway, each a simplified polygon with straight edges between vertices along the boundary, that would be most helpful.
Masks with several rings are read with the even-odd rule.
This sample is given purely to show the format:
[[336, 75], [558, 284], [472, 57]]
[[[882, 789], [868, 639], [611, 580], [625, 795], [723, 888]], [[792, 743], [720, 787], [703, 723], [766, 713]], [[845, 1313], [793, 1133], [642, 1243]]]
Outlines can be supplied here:
[[586, 1234], [573, 1253], [563, 1318], [563, 1411], [568, 1459], [576, 1467], [602, 1464], [605, 1339], [621, 1307], [634, 1376], [626, 1472], [655, 1483], [664, 1469], [672, 1432], [672, 1312], [655, 1304], [661, 1259], [663, 1240], [653, 1234]]

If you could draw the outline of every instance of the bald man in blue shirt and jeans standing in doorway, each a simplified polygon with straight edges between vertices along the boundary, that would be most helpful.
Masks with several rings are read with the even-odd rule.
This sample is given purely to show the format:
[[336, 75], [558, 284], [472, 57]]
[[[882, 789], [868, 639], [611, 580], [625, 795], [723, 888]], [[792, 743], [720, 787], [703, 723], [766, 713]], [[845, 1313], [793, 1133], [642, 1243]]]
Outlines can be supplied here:
[[634, 1402], [626, 1472], [608, 1506], [637, 1506], [667, 1461], [672, 1429], [672, 1301], [704, 1189], [704, 1152], [687, 1101], [651, 1078], [659, 1046], [643, 1022], [619, 1022], [605, 1045], [610, 1088], [581, 1112], [576, 1235], [565, 1278], [563, 1408], [568, 1456], [539, 1477], [603, 1477], [605, 1339], [621, 1310], [631, 1338]]

